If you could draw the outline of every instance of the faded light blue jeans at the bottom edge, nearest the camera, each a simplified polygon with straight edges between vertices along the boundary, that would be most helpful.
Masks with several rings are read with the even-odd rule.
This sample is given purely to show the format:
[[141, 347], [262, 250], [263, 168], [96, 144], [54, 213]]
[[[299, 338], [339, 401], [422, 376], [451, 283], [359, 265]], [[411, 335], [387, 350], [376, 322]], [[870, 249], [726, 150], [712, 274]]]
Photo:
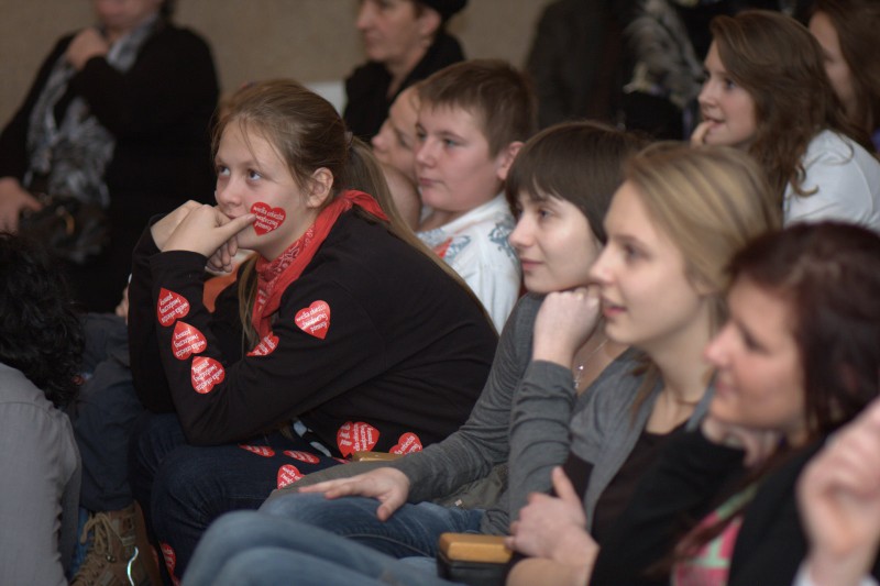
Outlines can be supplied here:
[[449, 586], [436, 572], [321, 529], [239, 511], [218, 519], [199, 543], [184, 586], [297, 584]]

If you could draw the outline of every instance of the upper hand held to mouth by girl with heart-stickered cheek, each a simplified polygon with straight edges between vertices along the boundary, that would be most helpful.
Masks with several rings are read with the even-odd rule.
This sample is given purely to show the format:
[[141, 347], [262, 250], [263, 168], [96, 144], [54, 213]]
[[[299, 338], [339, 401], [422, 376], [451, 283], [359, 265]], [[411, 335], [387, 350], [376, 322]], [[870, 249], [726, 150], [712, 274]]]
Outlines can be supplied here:
[[198, 206], [177, 224], [162, 250], [197, 252], [211, 257], [224, 245], [229, 251], [228, 243], [253, 221], [252, 213], [230, 220], [213, 206]]

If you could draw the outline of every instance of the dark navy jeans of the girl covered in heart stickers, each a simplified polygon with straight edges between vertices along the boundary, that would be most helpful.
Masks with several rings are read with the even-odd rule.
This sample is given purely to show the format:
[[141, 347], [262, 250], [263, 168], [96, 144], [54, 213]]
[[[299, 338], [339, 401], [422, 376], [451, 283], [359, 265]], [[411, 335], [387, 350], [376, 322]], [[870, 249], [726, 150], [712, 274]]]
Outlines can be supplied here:
[[242, 444], [190, 445], [174, 414], [143, 417], [131, 450], [132, 491], [165, 557], [172, 576], [163, 575], [166, 583], [183, 575], [211, 521], [224, 512], [256, 509], [298, 474], [339, 464], [306, 440], [278, 432]]

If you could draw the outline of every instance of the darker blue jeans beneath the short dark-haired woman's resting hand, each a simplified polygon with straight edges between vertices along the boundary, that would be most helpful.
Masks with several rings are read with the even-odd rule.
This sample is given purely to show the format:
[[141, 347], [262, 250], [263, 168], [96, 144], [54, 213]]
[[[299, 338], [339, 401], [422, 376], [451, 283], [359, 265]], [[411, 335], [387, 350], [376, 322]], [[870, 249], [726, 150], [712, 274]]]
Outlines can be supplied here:
[[387, 521], [376, 518], [378, 501], [365, 497], [329, 500], [323, 495], [292, 493], [273, 498], [260, 510], [273, 517], [319, 527], [392, 557], [437, 556], [440, 533], [477, 533], [482, 510], [406, 504]]

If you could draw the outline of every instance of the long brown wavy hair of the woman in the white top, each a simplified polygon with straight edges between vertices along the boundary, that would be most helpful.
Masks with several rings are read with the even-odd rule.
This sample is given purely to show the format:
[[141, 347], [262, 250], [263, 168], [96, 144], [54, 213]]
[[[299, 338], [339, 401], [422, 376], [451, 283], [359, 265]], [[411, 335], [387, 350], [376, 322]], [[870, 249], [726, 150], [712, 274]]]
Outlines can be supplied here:
[[760, 163], [782, 203], [785, 186], [807, 196], [801, 159], [813, 137], [833, 130], [873, 151], [853, 124], [825, 73], [818, 42], [790, 16], [747, 10], [715, 16], [710, 25], [730, 78], [755, 101], [757, 130], [749, 153]]

